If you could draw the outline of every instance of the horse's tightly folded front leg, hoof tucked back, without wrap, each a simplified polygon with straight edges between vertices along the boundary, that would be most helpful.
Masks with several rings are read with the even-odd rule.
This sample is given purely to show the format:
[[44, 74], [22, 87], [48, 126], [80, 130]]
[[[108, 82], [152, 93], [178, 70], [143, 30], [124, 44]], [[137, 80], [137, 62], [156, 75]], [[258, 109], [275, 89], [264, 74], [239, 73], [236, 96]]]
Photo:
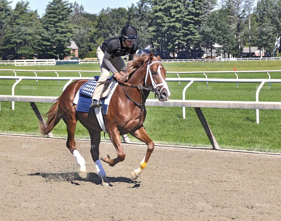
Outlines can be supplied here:
[[102, 161], [106, 162], [109, 164], [109, 166], [114, 166], [115, 164], [123, 161], [125, 159], [125, 152], [123, 150], [122, 147], [122, 143], [121, 143], [121, 139], [120, 139], [120, 133], [117, 129], [117, 127], [115, 128], [110, 128], [108, 131], [108, 135], [110, 137], [110, 140], [112, 141], [116, 152], [117, 152], [117, 158], [115, 159], [110, 159], [110, 157], [107, 155], [105, 157], [100, 158]]

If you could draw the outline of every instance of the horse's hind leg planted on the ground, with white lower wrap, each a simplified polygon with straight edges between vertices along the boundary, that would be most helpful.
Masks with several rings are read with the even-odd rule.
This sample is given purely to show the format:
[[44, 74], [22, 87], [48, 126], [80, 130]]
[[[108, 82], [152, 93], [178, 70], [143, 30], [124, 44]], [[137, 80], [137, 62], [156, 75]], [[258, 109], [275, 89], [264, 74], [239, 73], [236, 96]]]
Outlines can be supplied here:
[[106, 173], [102, 167], [102, 164], [100, 162], [99, 156], [100, 156], [100, 131], [89, 129], [89, 134], [91, 138], [91, 155], [92, 159], [95, 162], [95, 166], [97, 169], [97, 175], [102, 180], [102, 186], [110, 186], [110, 183], [106, 177]]

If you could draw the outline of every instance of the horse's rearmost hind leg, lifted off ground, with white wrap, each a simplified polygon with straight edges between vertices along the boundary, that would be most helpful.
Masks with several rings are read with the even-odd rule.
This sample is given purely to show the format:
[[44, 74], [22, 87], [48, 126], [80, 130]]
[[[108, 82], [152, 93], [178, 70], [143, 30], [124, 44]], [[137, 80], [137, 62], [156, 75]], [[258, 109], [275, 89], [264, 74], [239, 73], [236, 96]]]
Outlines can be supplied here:
[[75, 118], [75, 110], [73, 114], [67, 114], [64, 112], [62, 119], [64, 120], [67, 127], [67, 142], [66, 147], [70, 150], [70, 152], [75, 157], [77, 164], [80, 166], [79, 176], [83, 179], [87, 178], [87, 169], [85, 165], [85, 159], [81, 156], [81, 154], [76, 149], [76, 143], [74, 140], [74, 134], [76, 129], [77, 120]]

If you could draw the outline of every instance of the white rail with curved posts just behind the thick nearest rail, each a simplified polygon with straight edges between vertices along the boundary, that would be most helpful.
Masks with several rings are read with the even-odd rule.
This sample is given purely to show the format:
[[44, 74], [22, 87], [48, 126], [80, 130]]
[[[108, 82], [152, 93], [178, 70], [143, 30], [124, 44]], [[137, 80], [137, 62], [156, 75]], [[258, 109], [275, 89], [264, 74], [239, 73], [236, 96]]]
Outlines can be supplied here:
[[[15, 96], [15, 87], [16, 85], [21, 81], [21, 80], [64, 80], [64, 81], [68, 81], [64, 87], [63, 87], [63, 91], [66, 89], [66, 87], [74, 80], [79, 80], [79, 79], [94, 79], [94, 78], [85, 78], [85, 77], [13, 77], [13, 76], [0, 76], [0, 79], [16, 79], [16, 82], [13, 84], [12, 86], [12, 96]], [[179, 78], [166, 78], [167, 82], [176, 82], [179, 81]], [[189, 82], [183, 90], [182, 96], [183, 96], [183, 101], [185, 101], [185, 93], [186, 90], [189, 88], [189, 86], [191, 84], [193, 84], [193, 82], [215, 82], [215, 83], [259, 83], [260, 85], [258, 86], [257, 90], [256, 90], [256, 102], [259, 102], [259, 92], [262, 89], [263, 85], [265, 83], [281, 83], [281, 79], [221, 79], [221, 78], [209, 78], [209, 79], [204, 79], [204, 78], [180, 78], [180, 81], [182, 82]], [[227, 102], [228, 104], [233, 102], [233, 101], [221, 101], [221, 102]], [[244, 101], [246, 103], [250, 102], [250, 101]], [[244, 103], [244, 104], [246, 104]], [[278, 102], [277, 102], [278, 103]], [[244, 106], [241, 106], [241, 108], [243, 108]], [[270, 109], [270, 106], [268, 106]], [[0, 106], [1, 108], [1, 106]], [[218, 108], [220, 108], [218, 106]], [[226, 108], [224, 106], [224, 108]], [[231, 107], [229, 107], [231, 108]], [[14, 101], [12, 101], [12, 109], [15, 109], [15, 103]], [[185, 106], [183, 106], [183, 118], [185, 119]], [[256, 109], [256, 122], [259, 123], [259, 109]]]

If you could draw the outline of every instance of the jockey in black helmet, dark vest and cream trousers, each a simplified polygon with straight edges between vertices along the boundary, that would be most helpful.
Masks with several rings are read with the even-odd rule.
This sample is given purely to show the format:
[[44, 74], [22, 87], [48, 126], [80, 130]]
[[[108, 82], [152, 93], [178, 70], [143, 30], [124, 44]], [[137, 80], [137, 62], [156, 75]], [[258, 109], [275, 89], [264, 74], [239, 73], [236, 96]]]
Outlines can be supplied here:
[[126, 25], [122, 28], [120, 37], [110, 38], [97, 48], [97, 60], [100, 64], [101, 74], [92, 97], [91, 108], [102, 106], [99, 100], [110, 71], [117, 80], [122, 77], [120, 73], [126, 69], [126, 64], [121, 56], [129, 55], [128, 60], [133, 60], [133, 56], [138, 50], [135, 42], [137, 39], [136, 28]]

